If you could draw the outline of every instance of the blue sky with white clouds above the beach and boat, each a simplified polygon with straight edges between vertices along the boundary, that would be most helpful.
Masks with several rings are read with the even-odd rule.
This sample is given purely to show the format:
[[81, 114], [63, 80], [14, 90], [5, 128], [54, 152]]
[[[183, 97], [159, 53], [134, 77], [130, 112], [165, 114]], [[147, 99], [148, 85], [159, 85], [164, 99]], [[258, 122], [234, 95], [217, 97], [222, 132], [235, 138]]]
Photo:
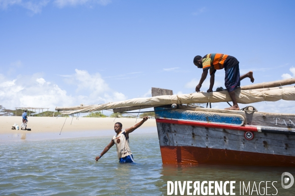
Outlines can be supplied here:
[[[293, 0], [0, 0], [0, 35], [0, 104], [10, 109], [150, 97], [151, 87], [193, 93], [193, 58], [207, 53], [235, 56], [255, 83], [295, 77]], [[290, 101], [252, 105], [295, 113]]]

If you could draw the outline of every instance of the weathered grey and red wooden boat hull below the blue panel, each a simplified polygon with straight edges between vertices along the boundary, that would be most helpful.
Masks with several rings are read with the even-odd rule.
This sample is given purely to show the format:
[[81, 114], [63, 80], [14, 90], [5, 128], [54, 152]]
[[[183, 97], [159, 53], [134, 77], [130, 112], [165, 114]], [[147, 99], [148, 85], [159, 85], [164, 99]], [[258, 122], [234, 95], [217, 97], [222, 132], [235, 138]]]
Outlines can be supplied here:
[[[186, 121], [181, 115], [172, 120], [157, 110], [163, 164], [295, 167], [295, 132], [266, 133], [257, 127]], [[254, 138], [247, 139], [246, 132]]]

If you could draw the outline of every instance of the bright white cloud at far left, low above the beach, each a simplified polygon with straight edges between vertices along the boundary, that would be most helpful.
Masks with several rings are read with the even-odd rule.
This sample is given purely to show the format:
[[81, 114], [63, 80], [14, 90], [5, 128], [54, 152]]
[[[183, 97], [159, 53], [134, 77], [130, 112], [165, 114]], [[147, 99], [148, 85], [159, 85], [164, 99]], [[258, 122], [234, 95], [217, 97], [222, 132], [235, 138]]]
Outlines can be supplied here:
[[0, 102], [5, 108], [15, 107], [49, 107], [55, 109], [59, 104], [73, 104], [74, 99], [66, 95], [58, 85], [46, 82], [44, 78], [36, 78], [34, 74], [23, 82], [23, 78], [8, 80], [4, 76], [0, 80]]

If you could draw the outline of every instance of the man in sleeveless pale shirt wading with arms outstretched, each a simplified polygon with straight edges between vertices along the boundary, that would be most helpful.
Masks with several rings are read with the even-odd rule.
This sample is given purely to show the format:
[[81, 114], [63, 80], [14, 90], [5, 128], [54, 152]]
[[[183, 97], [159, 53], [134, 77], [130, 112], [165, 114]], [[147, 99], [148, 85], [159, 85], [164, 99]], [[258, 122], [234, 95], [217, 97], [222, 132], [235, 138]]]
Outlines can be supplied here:
[[114, 129], [117, 135], [113, 137], [110, 144], [104, 148], [99, 156], [95, 157], [95, 161], [98, 161], [112, 146], [116, 144], [117, 154], [120, 163], [133, 163], [133, 156], [129, 148], [129, 133], [132, 133], [135, 129], [140, 127], [148, 120], [148, 117], [144, 117], [143, 120], [130, 128], [126, 128], [122, 131], [122, 123], [115, 123]]

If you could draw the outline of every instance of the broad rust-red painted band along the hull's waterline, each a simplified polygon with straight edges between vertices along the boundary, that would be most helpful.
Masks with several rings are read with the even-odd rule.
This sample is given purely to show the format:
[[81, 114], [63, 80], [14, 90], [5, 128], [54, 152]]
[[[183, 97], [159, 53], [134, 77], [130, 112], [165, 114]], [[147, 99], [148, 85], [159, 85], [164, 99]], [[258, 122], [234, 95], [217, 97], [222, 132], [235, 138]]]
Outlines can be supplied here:
[[163, 164], [214, 164], [295, 167], [295, 156], [216, 149], [160, 146]]

